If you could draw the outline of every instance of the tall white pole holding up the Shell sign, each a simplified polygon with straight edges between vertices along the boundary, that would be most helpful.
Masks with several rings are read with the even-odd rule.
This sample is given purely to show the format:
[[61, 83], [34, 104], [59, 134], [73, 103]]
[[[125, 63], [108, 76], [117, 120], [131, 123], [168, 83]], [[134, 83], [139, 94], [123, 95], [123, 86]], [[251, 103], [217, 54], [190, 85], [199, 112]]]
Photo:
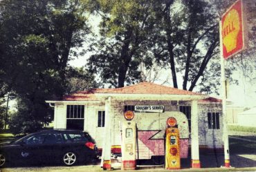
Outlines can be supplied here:
[[226, 113], [226, 75], [225, 75], [225, 61], [223, 58], [223, 42], [222, 42], [222, 26], [219, 21], [219, 48], [221, 58], [221, 87], [222, 87], [222, 118], [223, 118], [223, 144], [224, 144], [224, 157], [225, 167], [230, 167], [229, 143], [228, 143], [228, 126], [227, 126], [227, 113]]

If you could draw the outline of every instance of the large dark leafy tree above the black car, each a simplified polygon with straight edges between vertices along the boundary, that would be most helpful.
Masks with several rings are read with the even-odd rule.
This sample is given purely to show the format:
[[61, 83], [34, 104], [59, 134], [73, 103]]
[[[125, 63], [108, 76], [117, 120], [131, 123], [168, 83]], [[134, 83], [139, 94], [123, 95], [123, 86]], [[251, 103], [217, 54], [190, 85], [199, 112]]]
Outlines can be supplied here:
[[19, 97], [19, 127], [37, 128], [53, 114], [45, 100], [66, 92], [68, 61], [78, 55], [71, 48], [82, 46], [89, 27], [77, 0], [4, 0], [1, 8], [1, 94]]

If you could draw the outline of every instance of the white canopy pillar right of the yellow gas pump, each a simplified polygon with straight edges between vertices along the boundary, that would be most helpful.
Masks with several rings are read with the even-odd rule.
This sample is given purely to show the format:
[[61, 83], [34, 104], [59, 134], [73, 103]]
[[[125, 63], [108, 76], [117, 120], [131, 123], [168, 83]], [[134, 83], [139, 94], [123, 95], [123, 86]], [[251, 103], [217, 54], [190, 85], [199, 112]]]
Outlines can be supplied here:
[[198, 130], [198, 107], [197, 100], [191, 104], [191, 167], [201, 168], [199, 160], [199, 130]]

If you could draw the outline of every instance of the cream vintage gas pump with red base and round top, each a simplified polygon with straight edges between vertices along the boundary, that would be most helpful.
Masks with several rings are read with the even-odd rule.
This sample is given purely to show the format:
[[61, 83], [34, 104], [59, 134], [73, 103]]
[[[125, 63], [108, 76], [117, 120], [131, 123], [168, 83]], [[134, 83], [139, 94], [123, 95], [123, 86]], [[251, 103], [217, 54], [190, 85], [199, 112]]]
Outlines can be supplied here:
[[136, 123], [131, 120], [134, 112], [125, 112], [126, 121], [122, 122], [122, 169], [136, 169]]

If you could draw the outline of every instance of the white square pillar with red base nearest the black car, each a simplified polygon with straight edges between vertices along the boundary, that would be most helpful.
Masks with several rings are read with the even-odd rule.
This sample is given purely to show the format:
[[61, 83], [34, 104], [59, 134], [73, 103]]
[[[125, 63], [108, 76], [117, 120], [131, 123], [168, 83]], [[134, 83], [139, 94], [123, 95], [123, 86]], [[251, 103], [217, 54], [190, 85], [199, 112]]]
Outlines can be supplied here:
[[105, 100], [105, 126], [102, 145], [101, 166], [104, 170], [111, 170], [111, 97]]

